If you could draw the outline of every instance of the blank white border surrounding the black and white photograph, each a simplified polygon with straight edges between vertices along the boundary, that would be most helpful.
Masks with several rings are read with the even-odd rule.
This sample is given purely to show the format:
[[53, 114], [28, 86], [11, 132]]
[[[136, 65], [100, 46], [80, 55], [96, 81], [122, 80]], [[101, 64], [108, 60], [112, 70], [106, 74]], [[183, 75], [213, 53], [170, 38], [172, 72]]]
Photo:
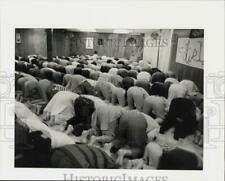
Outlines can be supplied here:
[[[218, 84], [224, 86], [223, 1], [2, 0], [0, 8], [0, 90], [6, 89], [0, 101], [0, 179], [224, 180], [224, 92], [215, 91]], [[15, 28], [204, 29], [204, 108], [216, 112], [205, 113], [210, 125], [205, 124], [204, 138], [213, 141], [205, 144], [203, 170], [14, 168]]]

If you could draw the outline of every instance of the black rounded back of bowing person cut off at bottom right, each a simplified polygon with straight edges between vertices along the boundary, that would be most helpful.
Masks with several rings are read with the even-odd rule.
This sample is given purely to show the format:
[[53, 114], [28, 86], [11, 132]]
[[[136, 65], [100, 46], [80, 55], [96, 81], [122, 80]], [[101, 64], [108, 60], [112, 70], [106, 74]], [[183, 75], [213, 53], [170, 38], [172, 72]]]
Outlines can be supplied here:
[[197, 156], [187, 150], [176, 148], [162, 154], [158, 169], [164, 170], [199, 170]]

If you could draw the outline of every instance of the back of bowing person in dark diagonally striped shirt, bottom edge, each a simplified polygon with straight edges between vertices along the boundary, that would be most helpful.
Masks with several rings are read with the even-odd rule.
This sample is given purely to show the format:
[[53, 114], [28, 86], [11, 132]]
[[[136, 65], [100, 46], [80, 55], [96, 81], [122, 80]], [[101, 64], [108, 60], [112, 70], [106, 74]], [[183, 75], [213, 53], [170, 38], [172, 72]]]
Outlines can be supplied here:
[[117, 168], [114, 160], [104, 151], [85, 144], [67, 145], [54, 150], [51, 166], [54, 168]]

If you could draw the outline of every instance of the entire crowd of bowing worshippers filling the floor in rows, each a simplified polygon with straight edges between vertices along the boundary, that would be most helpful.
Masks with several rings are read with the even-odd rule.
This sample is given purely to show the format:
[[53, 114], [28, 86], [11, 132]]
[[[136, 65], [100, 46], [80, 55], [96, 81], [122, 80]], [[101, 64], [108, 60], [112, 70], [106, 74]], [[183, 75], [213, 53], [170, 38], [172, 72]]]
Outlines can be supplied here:
[[203, 95], [193, 81], [106, 56], [15, 61], [16, 129], [48, 140], [38, 145], [49, 167], [202, 169]]

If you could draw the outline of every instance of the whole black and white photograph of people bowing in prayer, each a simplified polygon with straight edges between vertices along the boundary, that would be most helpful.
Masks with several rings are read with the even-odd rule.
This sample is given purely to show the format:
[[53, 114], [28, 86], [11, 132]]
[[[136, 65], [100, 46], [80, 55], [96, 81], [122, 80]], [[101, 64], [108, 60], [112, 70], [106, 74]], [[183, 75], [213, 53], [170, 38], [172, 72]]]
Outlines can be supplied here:
[[15, 37], [15, 167], [203, 169], [203, 29]]

